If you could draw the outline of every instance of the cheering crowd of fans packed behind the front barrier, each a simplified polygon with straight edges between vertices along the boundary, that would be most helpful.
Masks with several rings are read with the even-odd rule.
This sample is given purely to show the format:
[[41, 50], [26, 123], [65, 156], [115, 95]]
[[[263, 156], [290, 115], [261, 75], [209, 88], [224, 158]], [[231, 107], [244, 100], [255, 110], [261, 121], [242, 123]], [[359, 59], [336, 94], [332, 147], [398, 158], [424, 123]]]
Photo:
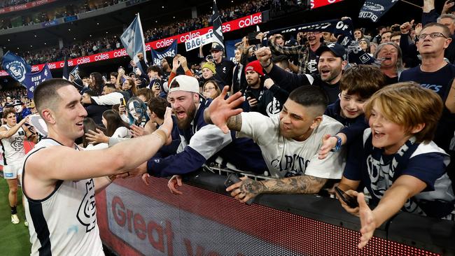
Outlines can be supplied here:
[[[174, 175], [174, 193], [182, 175], [204, 164], [271, 178], [230, 185], [245, 203], [262, 193], [327, 196], [339, 188], [343, 208], [360, 216], [359, 248], [398, 211], [453, 220], [455, 16], [427, 0], [421, 23], [390, 27], [372, 35], [356, 29], [347, 39], [329, 31], [258, 33], [254, 43], [245, 36], [236, 45], [235, 62], [213, 43], [210, 58], [200, 48], [193, 64], [184, 55], [147, 64], [140, 53], [130, 70], [72, 77], [87, 118], [108, 127], [109, 111], [123, 131], [109, 137], [94, 129], [83, 141], [109, 147], [151, 134], [170, 106], [169, 145], [144, 172]], [[376, 62], [362, 64], [349, 49]]]

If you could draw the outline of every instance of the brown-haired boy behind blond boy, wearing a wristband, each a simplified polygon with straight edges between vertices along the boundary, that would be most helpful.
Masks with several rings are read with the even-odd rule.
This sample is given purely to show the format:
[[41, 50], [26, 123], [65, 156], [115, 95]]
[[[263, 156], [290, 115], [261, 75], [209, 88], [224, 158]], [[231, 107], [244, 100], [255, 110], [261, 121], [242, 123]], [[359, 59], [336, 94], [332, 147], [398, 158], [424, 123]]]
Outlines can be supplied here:
[[332, 148], [339, 149], [341, 145], [363, 134], [363, 130], [368, 127], [363, 105], [385, 83], [384, 74], [375, 66], [358, 65], [344, 71], [339, 83], [339, 99], [330, 104], [324, 113], [341, 122], [344, 129], [335, 136], [324, 136], [320, 159], [324, 159]]

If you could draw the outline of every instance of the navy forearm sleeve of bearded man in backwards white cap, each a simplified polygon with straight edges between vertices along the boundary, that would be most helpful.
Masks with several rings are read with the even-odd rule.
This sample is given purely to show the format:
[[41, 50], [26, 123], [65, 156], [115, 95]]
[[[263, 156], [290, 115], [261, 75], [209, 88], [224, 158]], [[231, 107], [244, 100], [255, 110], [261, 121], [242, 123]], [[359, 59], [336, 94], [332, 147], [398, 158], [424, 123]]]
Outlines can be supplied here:
[[179, 154], [148, 160], [147, 173], [156, 177], [186, 174], [196, 171], [205, 162], [206, 159], [199, 152], [186, 146]]

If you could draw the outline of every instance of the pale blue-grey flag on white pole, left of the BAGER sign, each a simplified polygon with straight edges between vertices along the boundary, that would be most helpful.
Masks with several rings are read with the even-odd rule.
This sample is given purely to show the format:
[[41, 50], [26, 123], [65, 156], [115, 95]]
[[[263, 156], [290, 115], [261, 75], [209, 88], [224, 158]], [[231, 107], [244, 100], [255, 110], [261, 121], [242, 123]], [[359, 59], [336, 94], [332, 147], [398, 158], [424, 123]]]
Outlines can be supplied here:
[[131, 22], [130, 27], [127, 27], [120, 36], [120, 41], [122, 41], [123, 47], [127, 51], [127, 54], [136, 64], [136, 66], [141, 69], [141, 72], [146, 74], [146, 70], [142, 70], [141, 64], [139, 64], [139, 53], [144, 55], [144, 61], [147, 63], [146, 59], [146, 44], [144, 43], [144, 33], [142, 32], [141, 17], [139, 13]]

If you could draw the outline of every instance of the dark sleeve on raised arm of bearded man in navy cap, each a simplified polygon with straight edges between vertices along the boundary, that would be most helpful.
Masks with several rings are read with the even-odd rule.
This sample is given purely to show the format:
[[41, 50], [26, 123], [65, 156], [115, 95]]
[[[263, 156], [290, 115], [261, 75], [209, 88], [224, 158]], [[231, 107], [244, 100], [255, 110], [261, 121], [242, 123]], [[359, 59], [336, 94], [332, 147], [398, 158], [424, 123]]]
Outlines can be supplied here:
[[311, 85], [307, 76], [304, 74], [289, 73], [275, 64], [272, 66], [269, 77], [272, 78], [274, 82], [278, 83], [283, 90], [286, 90], [289, 93], [302, 85]]

